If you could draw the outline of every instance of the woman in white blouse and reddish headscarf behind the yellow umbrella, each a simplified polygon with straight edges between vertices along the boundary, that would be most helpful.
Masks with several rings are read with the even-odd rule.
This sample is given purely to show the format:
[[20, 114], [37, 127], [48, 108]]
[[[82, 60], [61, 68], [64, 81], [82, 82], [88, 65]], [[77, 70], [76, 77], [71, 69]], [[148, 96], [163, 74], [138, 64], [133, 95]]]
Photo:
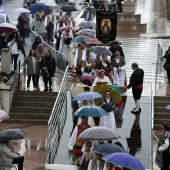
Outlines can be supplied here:
[[102, 83], [110, 83], [110, 80], [105, 76], [105, 71], [103, 69], [98, 71], [98, 76], [94, 79], [92, 86], [97, 86]]

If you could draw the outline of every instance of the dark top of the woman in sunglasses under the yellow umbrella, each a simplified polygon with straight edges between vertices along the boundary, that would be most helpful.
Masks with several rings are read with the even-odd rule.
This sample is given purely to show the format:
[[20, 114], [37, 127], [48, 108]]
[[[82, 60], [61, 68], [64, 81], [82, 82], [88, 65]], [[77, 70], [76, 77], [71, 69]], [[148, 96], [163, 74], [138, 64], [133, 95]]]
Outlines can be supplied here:
[[[105, 103], [105, 104], [103, 104]], [[107, 113], [113, 111], [113, 107], [115, 106], [115, 101], [113, 99], [110, 99], [109, 103], [105, 98], [102, 99], [99, 106], [104, 109]]]

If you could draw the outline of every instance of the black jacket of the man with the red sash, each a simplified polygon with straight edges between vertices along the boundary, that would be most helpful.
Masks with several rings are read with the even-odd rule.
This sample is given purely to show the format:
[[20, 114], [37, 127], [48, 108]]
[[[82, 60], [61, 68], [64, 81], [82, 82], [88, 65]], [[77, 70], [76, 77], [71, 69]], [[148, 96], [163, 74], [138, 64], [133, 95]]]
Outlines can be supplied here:
[[130, 77], [130, 82], [127, 88], [135, 87], [143, 83], [144, 71], [141, 68], [136, 68]]

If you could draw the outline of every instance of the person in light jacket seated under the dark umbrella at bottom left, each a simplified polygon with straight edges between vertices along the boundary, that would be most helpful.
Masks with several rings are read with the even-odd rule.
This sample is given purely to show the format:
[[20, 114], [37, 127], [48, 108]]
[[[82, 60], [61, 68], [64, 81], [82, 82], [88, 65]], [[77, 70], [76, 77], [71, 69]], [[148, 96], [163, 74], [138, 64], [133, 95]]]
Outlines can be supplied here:
[[8, 140], [0, 142], [0, 154], [7, 165], [18, 164], [18, 170], [23, 170], [24, 156], [15, 152]]

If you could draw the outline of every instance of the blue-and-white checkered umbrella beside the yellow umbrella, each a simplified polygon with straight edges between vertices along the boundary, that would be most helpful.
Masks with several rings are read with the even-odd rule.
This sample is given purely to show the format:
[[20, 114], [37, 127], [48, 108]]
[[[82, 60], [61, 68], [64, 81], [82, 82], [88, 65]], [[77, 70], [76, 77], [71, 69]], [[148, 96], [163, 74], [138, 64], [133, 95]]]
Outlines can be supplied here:
[[84, 92], [84, 93], [80, 93], [77, 94], [76, 96], [74, 96], [73, 100], [74, 101], [82, 101], [82, 100], [90, 100], [90, 99], [97, 99], [97, 98], [101, 98], [102, 95], [99, 94], [98, 92]]

